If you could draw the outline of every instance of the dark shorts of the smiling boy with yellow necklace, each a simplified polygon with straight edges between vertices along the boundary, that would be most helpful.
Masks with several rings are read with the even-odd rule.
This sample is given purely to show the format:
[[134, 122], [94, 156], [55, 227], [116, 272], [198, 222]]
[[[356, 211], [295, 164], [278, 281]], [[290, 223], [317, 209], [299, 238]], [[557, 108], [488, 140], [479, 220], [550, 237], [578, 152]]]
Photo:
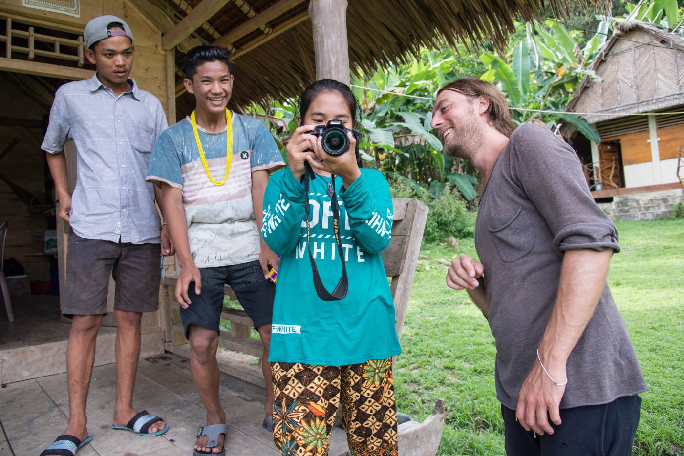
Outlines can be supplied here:
[[271, 324], [276, 285], [263, 278], [259, 261], [200, 268], [200, 276], [202, 276], [202, 293], [195, 294], [195, 283], [190, 283], [187, 293], [190, 305], [187, 309], [181, 307], [181, 320], [187, 339], [189, 339], [188, 328], [191, 324], [220, 332], [219, 321], [225, 296], [223, 286], [226, 283], [235, 291], [240, 305], [252, 319], [254, 328]]

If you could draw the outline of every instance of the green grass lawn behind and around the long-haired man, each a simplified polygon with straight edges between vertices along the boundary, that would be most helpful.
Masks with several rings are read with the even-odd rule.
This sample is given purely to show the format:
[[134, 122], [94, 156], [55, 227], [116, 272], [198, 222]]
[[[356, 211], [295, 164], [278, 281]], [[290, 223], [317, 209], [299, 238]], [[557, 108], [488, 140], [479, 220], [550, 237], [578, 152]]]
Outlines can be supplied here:
[[[684, 455], [684, 219], [618, 222], [622, 251], [608, 283], [627, 324], [649, 390], [634, 455]], [[440, 455], [503, 455], [495, 397], [494, 339], [464, 291], [445, 285], [448, 261], [475, 255], [423, 246], [395, 373], [397, 407], [422, 421], [447, 401]]]

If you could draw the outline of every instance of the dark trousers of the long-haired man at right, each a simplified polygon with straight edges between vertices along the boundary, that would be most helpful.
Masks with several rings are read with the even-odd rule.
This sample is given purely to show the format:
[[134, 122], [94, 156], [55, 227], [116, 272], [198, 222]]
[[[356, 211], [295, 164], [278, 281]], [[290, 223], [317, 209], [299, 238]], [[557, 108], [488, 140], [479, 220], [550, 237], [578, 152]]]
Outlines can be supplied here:
[[639, 425], [641, 398], [618, 397], [603, 405], [565, 408], [553, 434], [536, 436], [516, 421], [515, 410], [501, 405], [507, 456], [631, 456]]

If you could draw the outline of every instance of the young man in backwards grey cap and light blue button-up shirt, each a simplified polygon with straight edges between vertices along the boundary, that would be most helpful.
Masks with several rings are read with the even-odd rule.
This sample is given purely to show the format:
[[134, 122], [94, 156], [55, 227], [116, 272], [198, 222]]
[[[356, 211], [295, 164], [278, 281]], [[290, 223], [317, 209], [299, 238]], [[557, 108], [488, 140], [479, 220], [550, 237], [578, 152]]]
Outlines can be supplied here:
[[[86, 399], [95, 342], [107, 314], [109, 276], [116, 281], [116, 405], [112, 429], [158, 436], [168, 425], [133, 409], [143, 312], [157, 311], [159, 244], [172, 255], [161, 227], [152, 184], [145, 182], [153, 145], [167, 127], [161, 103], [129, 78], [133, 34], [116, 16], [99, 16], [83, 30], [86, 57], [96, 73], [57, 89], [42, 143], [58, 216], [70, 223], [64, 309], [73, 319], [66, 350], [69, 423], [41, 456], [73, 456], [88, 444]], [[64, 143], [77, 150], [77, 184], [68, 193]], [[160, 228], [161, 227], [161, 228]], [[161, 231], [161, 232], [160, 232]]]

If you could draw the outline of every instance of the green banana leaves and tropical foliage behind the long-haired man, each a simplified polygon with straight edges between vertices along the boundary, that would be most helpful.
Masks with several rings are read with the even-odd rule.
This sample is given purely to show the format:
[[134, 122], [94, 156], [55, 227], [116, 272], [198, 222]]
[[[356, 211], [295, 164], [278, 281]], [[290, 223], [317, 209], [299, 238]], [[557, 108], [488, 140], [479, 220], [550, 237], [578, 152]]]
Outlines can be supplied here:
[[[624, 18], [684, 34], [676, 0], [616, 4]], [[611, 35], [613, 21], [609, 16], [589, 17], [586, 22], [592, 23], [593, 30], [556, 19], [517, 23], [505, 49], [487, 42], [479, 46], [466, 42], [456, 48], [423, 49], [402, 64], [378, 67], [374, 72], [355, 70], [352, 89], [363, 111], [360, 146], [365, 165], [403, 182], [414, 190], [412, 196], [423, 197], [421, 192], [428, 189], [437, 198], [451, 185], [466, 201], [473, 201], [475, 169], [466, 160], [447, 156], [430, 128], [437, 89], [462, 76], [495, 83], [505, 92], [518, 124], [537, 122], [557, 130], [568, 122], [599, 142], [599, 133], [588, 122], [564, 108], [584, 76], [599, 79], [590, 66]], [[477, 54], [473, 54], [475, 48]], [[253, 106], [252, 110], [274, 126], [280, 125], [275, 136], [285, 156], [282, 141], [287, 130], [296, 126], [295, 102], [276, 102], [267, 111]]]

